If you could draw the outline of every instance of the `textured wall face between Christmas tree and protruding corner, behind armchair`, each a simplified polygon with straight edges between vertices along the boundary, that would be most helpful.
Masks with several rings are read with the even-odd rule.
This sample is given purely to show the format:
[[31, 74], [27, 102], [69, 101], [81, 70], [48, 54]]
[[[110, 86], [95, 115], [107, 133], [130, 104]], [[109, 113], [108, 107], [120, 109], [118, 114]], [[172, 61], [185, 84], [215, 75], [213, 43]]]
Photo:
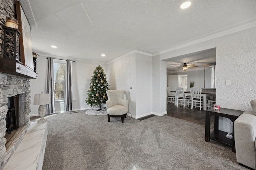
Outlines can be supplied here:
[[110, 90], [125, 90], [126, 99], [129, 100], [129, 112], [136, 117], [136, 54], [109, 63], [106, 74]]

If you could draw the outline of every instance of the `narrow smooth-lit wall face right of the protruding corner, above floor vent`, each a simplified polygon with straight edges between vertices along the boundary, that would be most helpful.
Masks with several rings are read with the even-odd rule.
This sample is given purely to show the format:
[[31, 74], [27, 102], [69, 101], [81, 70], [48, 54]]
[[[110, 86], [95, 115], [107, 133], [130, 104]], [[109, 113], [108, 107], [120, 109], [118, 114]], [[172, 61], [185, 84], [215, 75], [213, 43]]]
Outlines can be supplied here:
[[136, 53], [136, 117], [152, 112], [152, 57]]

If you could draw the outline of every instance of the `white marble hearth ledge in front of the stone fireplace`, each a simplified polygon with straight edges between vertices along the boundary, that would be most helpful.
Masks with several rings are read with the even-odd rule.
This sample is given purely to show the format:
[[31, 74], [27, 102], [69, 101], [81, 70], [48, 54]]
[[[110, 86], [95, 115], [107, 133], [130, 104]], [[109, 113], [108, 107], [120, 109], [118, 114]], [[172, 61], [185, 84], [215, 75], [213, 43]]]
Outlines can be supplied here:
[[3, 170], [42, 170], [47, 132], [47, 122], [31, 122]]

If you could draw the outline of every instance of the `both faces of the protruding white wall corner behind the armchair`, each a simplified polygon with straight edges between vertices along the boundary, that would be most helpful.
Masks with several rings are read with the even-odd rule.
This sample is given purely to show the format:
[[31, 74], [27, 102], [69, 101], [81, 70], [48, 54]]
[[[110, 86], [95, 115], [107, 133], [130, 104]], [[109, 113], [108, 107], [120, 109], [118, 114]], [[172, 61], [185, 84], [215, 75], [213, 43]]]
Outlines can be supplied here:
[[132, 117], [152, 114], [152, 57], [134, 52], [109, 63], [107, 68], [110, 89], [126, 91]]

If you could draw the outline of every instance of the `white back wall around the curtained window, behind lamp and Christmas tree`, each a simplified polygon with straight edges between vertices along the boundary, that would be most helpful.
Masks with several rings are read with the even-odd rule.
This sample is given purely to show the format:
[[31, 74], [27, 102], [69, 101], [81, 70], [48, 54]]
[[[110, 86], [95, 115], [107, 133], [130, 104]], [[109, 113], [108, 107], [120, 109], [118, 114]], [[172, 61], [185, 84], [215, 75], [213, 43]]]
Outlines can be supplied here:
[[[61, 57], [58, 57], [61, 59]], [[88, 106], [85, 102], [87, 98], [87, 90], [90, 86], [91, 76], [96, 68], [96, 66], [102, 66], [104, 72], [106, 73], [106, 64], [98, 64], [98, 63], [89, 63], [84, 61], [76, 61], [72, 63], [72, 88], [73, 88], [73, 110], [85, 109]], [[37, 79], [31, 79], [31, 101], [34, 101], [34, 94], [40, 94], [40, 92], [45, 92], [45, 84], [46, 84], [46, 72], [47, 72], [47, 59], [46, 56], [38, 56], [37, 60]], [[58, 104], [56, 105], [56, 111]], [[31, 105], [30, 116], [38, 115], [38, 107]]]

